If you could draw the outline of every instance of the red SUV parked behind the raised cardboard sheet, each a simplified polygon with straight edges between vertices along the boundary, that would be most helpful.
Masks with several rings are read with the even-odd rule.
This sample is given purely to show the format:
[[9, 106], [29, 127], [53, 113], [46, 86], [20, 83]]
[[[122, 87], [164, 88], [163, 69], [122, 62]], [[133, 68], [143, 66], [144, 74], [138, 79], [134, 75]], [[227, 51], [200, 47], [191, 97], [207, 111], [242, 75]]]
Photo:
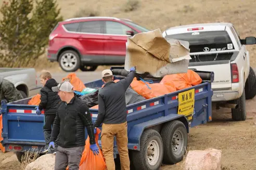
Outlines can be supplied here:
[[59, 22], [49, 35], [47, 57], [66, 72], [94, 71], [98, 65], [124, 64], [127, 36], [148, 32], [127, 19], [72, 18]]

